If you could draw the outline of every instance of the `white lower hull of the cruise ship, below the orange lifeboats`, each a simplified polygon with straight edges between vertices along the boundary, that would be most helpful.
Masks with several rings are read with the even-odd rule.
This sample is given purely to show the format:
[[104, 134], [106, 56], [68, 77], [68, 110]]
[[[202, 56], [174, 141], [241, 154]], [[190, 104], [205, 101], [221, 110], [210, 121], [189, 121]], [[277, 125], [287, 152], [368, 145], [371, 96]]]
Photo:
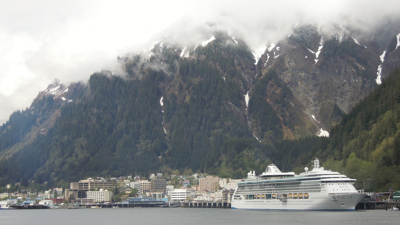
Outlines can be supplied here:
[[354, 211], [364, 193], [310, 194], [308, 199], [232, 200], [232, 209]]

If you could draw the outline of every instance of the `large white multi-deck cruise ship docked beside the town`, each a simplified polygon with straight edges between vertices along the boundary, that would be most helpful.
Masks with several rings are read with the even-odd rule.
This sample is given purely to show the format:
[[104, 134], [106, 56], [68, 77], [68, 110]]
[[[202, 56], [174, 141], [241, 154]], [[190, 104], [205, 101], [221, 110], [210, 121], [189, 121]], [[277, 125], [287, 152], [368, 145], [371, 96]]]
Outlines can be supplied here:
[[238, 182], [232, 209], [355, 210], [366, 195], [354, 188], [356, 180], [325, 170], [317, 158], [312, 162], [314, 168], [300, 175], [282, 173], [274, 164], [258, 176], [250, 171]]

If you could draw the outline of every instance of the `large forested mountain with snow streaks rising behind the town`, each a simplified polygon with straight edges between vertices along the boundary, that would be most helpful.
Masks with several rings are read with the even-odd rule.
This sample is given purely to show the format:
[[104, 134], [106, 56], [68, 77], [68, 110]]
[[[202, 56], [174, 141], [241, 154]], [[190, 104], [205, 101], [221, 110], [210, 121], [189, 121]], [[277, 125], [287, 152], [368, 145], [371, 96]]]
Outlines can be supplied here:
[[175, 169], [240, 178], [270, 161], [288, 170], [314, 156], [374, 161], [359, 154], [361, 145], [342, 152], [354, 139], [337, 135], [355, 129], [346, 122], [360, 113], [353, 106], [385, 88], [378, 83], [398, 64], [399, 35], [386, 29], [371, 38], [296, 26], [258, 53], [220, 31], [197, 46], [156, 42], [150, 55], [118, 56], [125, 74], [56, 80], [0, 127], [0, 184], [61, 186], [86, 176]]

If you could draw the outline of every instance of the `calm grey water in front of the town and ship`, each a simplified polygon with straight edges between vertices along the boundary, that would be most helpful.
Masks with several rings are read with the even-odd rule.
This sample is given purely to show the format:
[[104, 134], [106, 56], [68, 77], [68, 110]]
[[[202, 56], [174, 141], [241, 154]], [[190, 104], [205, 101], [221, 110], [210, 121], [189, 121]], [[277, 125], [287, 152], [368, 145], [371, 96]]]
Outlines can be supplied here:
[[400, 211], [258, 211], [199, 208], [0, 210], [0, 225], [398, 225]]

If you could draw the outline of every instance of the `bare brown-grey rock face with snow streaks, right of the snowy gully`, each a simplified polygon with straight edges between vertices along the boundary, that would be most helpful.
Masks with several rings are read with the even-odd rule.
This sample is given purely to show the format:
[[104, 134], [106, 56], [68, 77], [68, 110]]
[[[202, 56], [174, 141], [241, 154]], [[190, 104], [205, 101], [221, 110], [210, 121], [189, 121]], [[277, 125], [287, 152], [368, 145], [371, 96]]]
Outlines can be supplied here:
[[[304, 113], [316, 118], [318, 129], [329, 130], [340, 121], [342, 112], [349, 112], [378, 85], [381, 48], [375, 40], [360, 43], [350, 34], [323, 36], [312, 25], [295, 28], [294, 32], [268, 48], [260, 58], [265, 62], [261, 71], [277, 71], [304, 106]], [[387, 70], [398, 62], [395, 53], [388, 60]]]

